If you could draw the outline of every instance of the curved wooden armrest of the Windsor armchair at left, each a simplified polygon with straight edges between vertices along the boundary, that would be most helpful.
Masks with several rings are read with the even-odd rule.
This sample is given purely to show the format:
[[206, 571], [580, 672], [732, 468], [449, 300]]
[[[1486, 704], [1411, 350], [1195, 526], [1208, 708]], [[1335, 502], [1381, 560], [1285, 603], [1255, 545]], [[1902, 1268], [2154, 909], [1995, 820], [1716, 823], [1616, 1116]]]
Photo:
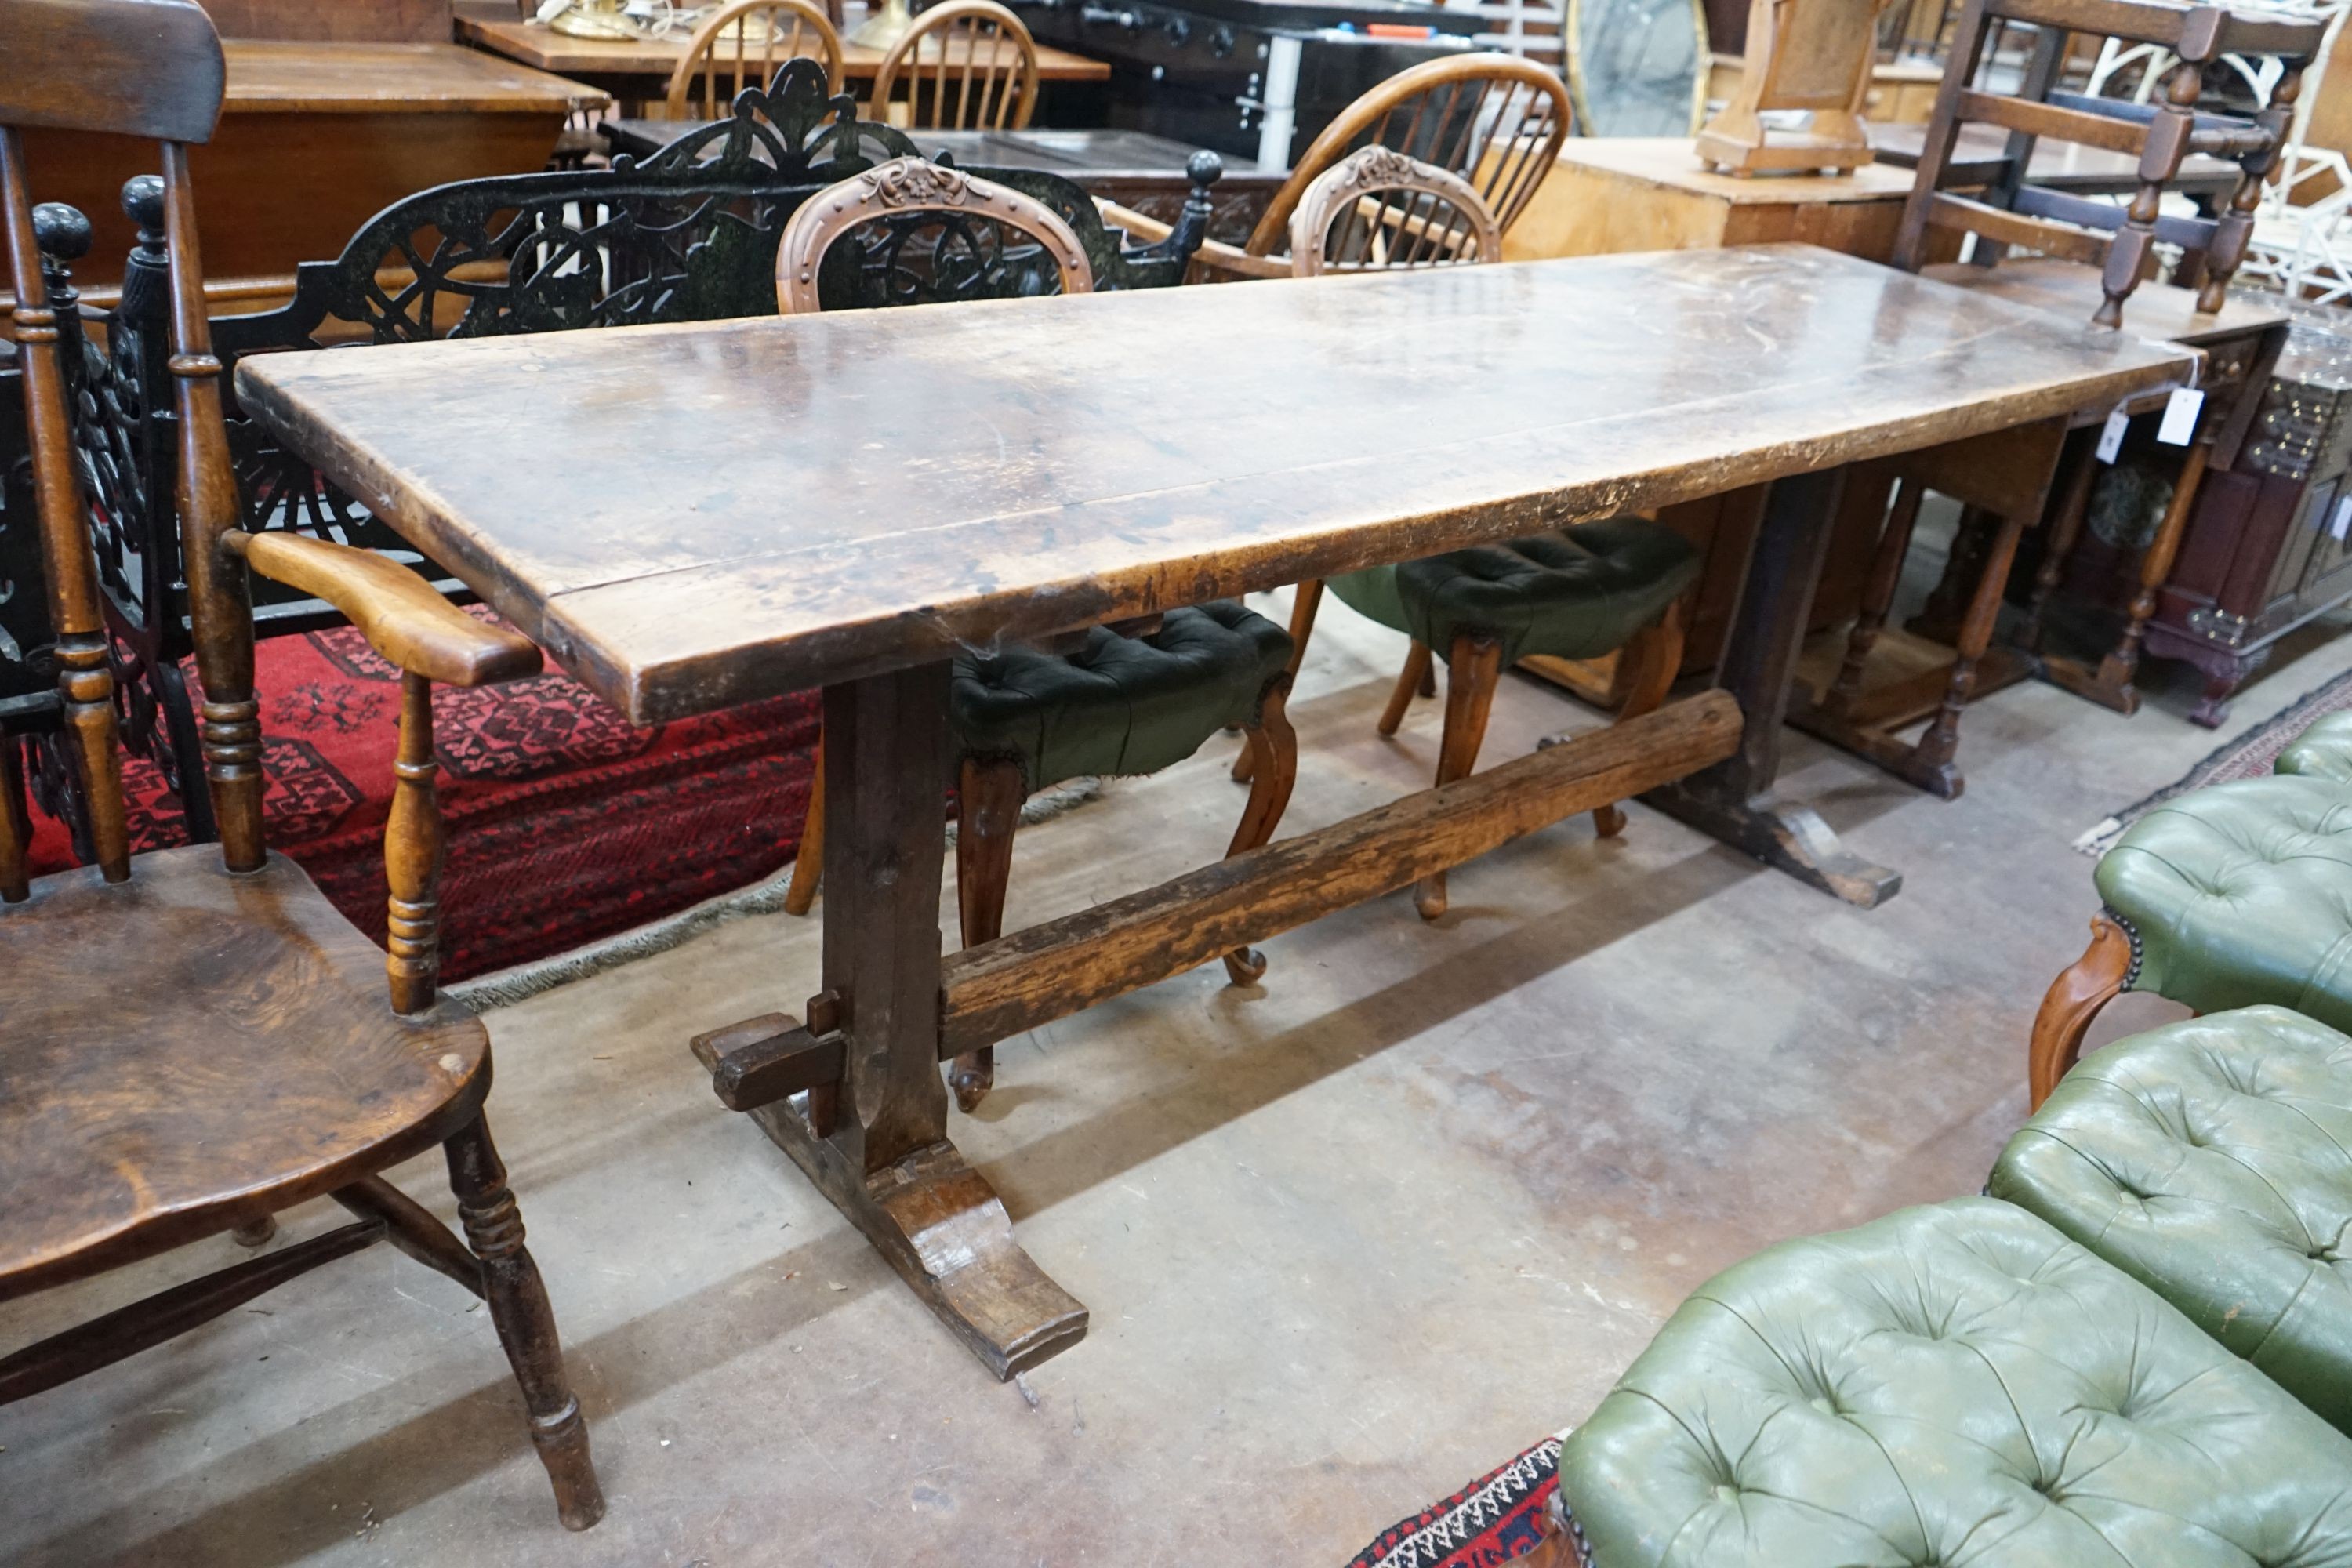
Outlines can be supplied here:
[[421, 576], [374, 550], [308, 534], [233, 529], [221, 548], [261, 576], [334, 604], [388, 661], [445, 686], [489, 686], [541, 668], [539, 646], [503, 625], [475, 621]]

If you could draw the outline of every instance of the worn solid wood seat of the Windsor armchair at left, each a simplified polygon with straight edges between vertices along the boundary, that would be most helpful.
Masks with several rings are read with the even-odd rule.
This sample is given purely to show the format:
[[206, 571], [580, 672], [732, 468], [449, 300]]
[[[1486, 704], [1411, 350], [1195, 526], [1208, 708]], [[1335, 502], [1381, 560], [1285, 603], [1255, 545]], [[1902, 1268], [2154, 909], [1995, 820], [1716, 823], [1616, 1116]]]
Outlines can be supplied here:
[[430, 1150], [489, 1093], [454, 1004], [383, 1006], [383, 952], [282, 856], [209, 844], [42, 877], [0, 917], [0, 1298], [193, 1241]]

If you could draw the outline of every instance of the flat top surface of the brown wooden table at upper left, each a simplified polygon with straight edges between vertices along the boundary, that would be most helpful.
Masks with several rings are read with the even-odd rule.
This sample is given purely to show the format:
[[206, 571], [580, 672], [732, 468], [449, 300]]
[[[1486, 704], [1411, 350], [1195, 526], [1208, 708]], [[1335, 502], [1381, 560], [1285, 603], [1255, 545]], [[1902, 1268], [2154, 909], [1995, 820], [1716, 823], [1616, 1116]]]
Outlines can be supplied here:
[[567, 113], [604, 92], [459, 45], [228, 38], [226, 113]]

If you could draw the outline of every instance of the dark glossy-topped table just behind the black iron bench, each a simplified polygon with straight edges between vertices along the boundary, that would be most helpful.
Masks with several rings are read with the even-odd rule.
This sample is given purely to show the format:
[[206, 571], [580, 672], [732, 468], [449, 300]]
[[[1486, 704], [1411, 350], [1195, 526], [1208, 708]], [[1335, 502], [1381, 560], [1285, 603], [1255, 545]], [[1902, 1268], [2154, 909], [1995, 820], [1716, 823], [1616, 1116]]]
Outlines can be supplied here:
[[[614, 153], [649, 158], [708, 120], [604, 120], [607, 146]], [[950, 153], [962, 169], [1044, 169], [1061, 174], [1089, 195], [1117, 202], [1148, 219], [1174, 223], [1192, 181], [1185, 160], [1197, 148], [1145, 132], [1025, 129], [1025, 132], [908, 132], [927, 155]], [[1242, 244], [1258, 226], [1275, 190], [1289, 179], [1279, 169], [1228, 158], [1216, 181], [1216, 205], [1209, 214], [1209, 237]]]

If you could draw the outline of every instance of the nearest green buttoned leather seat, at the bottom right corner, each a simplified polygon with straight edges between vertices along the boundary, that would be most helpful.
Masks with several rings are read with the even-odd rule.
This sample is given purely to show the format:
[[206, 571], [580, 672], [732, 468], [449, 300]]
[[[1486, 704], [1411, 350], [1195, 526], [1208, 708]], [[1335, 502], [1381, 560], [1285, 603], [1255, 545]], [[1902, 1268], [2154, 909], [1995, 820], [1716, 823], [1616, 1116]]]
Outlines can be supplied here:
[[1559, 1488], [1595, 1568], [2352, 1561], [2352, 1439], [1992, 1199], [1717, 1274]]

